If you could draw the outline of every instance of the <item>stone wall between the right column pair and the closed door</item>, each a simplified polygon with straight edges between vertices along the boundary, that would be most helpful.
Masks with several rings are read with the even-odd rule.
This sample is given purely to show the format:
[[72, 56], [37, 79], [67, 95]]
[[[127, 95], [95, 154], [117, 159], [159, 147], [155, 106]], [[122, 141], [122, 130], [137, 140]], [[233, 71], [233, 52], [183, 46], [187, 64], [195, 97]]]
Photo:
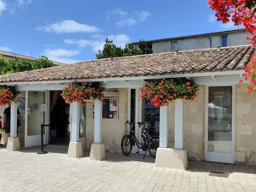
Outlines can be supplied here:
[[[204, 92], [199, 86], [198, 97], [184, 102], [183, 144], [188, 160], [204, 160]], [[174, 147], [174, 102], [169, 105], [169, 147]]]

